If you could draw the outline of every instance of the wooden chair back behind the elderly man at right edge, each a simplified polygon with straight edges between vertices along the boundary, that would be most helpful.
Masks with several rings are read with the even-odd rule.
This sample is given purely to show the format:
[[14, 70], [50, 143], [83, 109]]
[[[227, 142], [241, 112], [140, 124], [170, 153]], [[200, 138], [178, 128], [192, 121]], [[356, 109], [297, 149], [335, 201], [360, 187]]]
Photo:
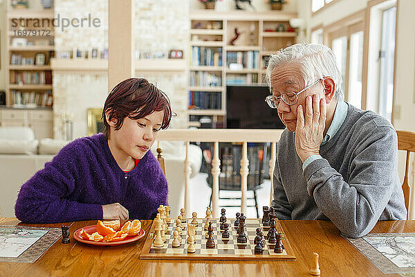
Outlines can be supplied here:
[[[409, 195], [411, 188], [408, 183], [408, 168], [409, 168], [409, 155], [411, 152], [415, 152], [415, 132], [409, 131], [396, 131], [398, 134], [398, 150], [407, 152], [406, 164], [405, 164], [405, 177], [403, 179], [402, 190], [405, 197], [405, 206], [409, 213]], [[414, 201], [414, 199], [412, 199]]]

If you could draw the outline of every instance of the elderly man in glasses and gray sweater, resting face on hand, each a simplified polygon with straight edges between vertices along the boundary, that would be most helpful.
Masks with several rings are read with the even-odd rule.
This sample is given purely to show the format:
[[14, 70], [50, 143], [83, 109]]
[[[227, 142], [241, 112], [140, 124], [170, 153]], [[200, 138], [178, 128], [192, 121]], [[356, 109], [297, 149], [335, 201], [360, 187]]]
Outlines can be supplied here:
[[270, 57], [267, 77], [266, 102], [286, 125], [274, 171], [277, 217], [331, 220], [353, 238], [378, 220], [405, 220], [396, 131], [344, 101], [333, 51], [289, 46]]

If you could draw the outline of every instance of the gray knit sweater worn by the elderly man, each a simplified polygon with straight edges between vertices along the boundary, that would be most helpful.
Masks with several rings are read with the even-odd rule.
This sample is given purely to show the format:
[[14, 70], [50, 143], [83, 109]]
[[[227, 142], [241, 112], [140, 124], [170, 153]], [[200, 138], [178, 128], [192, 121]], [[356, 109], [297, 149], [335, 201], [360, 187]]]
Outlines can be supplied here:
[[280, 220], [331, 220], [351, 238], [366, 235], [378, 220], [406, 220], [398, 138], [385, 118], [349, 105], [342, 127], [320, 155], [303, 172], [295, 133], [284, 130], [272, 203]]

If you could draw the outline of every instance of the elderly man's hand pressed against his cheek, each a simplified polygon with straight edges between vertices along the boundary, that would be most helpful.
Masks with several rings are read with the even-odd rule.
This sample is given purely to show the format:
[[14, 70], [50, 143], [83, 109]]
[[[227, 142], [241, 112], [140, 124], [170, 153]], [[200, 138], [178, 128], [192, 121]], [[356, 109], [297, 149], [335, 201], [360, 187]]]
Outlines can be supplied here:
[[306, 161], [311, 155], [320, 154], [326, 125], [326, 99], [320, 100], [315, 94], [306, 98], [305, 120], [302, 105], [297, 107], [297, 127], [295, 128], [295, 149], [299, 159]]

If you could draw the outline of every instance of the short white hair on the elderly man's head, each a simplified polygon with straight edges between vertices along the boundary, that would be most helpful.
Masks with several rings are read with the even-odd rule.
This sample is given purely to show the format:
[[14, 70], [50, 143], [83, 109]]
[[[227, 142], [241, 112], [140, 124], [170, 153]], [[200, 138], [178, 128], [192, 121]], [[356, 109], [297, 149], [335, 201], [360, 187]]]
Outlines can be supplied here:
[[271, 86], [270, 76], [275, 66], [290, 62], [299, 63], [299, 70], [302, 73], [306, 86], [324, 77], [330, 76], [333, 78], [335, 99], [344, 99], [344, 94], [340, 87], [342, 84], [342, 74], [338, 64], [335, 62], [335, 55], [329, 47], [322, 44], [293, 44], [281, 49], [276, 54], [270, 55], [266, 69], [266, 79], [269, 86]]

